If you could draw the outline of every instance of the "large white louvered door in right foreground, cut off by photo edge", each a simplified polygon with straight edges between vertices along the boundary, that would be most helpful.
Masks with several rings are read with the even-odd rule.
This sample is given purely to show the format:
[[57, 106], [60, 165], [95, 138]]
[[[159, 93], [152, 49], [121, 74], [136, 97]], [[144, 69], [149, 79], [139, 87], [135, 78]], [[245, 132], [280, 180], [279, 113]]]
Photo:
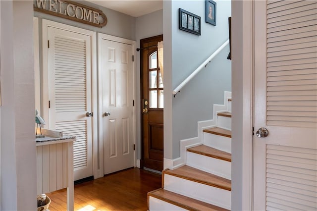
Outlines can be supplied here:
[[316, 210], [317, 1], [254, 3], [254, 210]]

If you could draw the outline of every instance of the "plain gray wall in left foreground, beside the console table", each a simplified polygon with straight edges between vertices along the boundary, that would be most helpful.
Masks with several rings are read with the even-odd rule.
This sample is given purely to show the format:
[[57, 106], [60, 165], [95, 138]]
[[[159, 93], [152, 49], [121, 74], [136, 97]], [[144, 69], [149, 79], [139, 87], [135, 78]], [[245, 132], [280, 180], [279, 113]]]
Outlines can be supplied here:
[[1, 4], [1, 207], [36, 210], [32, 1]]

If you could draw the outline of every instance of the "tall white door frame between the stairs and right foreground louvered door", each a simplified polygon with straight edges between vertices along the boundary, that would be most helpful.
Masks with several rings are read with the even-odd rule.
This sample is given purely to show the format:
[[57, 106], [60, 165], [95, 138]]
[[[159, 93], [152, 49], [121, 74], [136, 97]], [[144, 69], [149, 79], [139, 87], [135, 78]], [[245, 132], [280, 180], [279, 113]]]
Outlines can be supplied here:
[[231, 1], [233, 210], [252, 210], [254, 2]]

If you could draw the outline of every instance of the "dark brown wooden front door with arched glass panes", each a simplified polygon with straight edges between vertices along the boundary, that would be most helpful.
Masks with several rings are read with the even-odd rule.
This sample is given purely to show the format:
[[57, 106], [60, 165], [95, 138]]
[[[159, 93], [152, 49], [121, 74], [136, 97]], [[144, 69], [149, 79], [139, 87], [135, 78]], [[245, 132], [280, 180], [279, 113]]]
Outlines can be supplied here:
[[159, 68], [159, 35], [141, 46], [141, 168], [163, 170], [163, 72]]

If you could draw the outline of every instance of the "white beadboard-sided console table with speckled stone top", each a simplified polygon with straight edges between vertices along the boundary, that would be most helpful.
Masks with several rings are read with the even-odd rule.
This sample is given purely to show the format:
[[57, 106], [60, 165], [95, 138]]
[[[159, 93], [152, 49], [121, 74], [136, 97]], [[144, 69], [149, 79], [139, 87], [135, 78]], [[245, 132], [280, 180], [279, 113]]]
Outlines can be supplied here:
[[74, 210], [74, 136], [36, 139], [37, 194], [67, 188], [67, 210]]

